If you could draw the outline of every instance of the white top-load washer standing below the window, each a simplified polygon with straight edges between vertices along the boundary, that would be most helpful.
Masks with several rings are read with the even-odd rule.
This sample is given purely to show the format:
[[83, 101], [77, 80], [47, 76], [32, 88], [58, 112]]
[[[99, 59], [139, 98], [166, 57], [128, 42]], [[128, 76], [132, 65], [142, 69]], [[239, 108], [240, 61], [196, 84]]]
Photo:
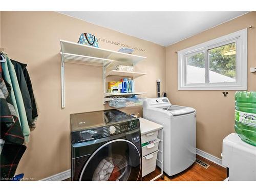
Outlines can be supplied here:
[[[147, 98], [143, 102], [143, 118], [164, 126], [163, 170], [168, 176], [182, 172], [195, 162], [195, 109], [172, 105], [166, 97]], [[161, 156], [158, 160], [161, 161]]]

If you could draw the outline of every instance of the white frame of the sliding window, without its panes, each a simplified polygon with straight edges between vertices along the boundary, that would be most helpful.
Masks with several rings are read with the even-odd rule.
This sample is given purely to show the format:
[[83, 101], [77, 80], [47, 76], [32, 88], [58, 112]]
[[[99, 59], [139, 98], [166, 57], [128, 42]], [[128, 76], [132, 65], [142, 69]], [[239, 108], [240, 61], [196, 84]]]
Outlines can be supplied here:
[[[208, 50], [236, 42], [236, 82], [208, 82]], [[205, 83], [187, 84], [186, 57], [205, 53]], [[178, 51], [178, 90], [247, 90], [247, 29]]]

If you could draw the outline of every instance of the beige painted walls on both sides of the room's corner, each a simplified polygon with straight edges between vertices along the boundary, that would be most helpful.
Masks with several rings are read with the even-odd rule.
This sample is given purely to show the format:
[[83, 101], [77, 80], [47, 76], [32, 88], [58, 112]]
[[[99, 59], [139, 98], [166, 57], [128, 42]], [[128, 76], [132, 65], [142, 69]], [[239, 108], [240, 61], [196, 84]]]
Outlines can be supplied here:
[[[178, 91], [177, 54], [175, 51], [210, 39], [247, 28], [248, 70], [256, 61], [256, 12], [251, 12], [225, 24], [209, 29], [177, 44], [164, 48], [100, 26], [89, 24], [56, 12], [1, 12], [1, 46], [10, 58], [28, 63], [34, 94], [39, 109], [36, 129], [17, 169], [25, 177], [36, 180], [70, 168], [71, 113], [108, 108], [102, 104], [102, 69], [82, 65], [66, 65], [66, 108], [60, 107], [59, 40], [76, 42], [80, 33], [89, 32], [99, 38], [122, 42], [145, 49], [134, 54], [147, 59], [136, 66], [146, 76], [136, 81], [136, 90], [156, 97], [156, 79], [161, 79], [161, 92], [173, 104], [192, 106], [197, 110], [197, 147], [220, 157], [222, 140], [234, 131], [234, 93], [228, 91]], [[120, 46], [99, 42], [101, 48], [118, 50]], [[166, 61], [166, 62], [165, 62]], [[165, 83], [166, 82], [166, 83]], [[147, 84], [147, 86], [145, 86]], [[256, 90], [256, 75], [248, 72], [248, 88]], [[126, 112], [141, 114], [141, 108], [127, 108]]]

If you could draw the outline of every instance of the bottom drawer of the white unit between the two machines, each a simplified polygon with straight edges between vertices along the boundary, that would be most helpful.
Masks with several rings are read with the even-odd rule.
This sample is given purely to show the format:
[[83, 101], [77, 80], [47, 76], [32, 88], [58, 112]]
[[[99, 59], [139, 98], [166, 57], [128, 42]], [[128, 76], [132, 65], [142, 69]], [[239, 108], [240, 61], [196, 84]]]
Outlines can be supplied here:
[[156, 170], [157, 153], [158, 150], [145, 157], [142, 157], [142, 177]]

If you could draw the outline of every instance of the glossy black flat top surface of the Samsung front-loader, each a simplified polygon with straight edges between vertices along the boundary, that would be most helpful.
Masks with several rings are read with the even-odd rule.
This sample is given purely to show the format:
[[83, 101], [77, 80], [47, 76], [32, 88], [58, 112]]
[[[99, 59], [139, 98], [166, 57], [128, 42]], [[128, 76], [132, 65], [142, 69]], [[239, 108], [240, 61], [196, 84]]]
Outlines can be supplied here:
[[137, 119], [119, 110], [103, 110], [70, 115], [71, 131], [86, 130], [92, 127]]

